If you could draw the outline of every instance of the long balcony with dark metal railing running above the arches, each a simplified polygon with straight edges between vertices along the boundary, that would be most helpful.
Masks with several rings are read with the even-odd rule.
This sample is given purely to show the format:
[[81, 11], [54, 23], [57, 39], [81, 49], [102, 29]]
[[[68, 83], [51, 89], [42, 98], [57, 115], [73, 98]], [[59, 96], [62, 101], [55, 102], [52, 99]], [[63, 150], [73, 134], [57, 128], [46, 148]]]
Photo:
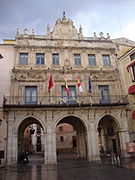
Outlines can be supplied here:
[[3, 107], [112, 106], [128, 104], [127, 96], [4, 96]]

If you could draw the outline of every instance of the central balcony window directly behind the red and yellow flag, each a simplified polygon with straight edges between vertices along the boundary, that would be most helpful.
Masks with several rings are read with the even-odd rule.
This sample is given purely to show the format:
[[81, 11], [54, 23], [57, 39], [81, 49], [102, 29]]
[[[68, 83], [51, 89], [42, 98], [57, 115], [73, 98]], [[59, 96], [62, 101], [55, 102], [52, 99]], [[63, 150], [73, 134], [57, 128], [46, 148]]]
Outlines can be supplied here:
[[62, 90], [62, 99], [63, 99], [63, 104], [74, 104], [76, 103], [76, 87], [75, 86], [68, 86], [68, 91], [69, 91], [69, 96], [67, 96], [66, 91], [65, 91], [65, 86], [61, 87]]

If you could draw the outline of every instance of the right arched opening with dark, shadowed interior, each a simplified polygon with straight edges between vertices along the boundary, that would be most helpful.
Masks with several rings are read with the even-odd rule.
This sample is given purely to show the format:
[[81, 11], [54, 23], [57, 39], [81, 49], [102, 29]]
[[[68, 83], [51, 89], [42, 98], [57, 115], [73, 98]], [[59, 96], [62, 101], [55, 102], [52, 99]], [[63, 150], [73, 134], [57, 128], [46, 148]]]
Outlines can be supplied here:
[[97, 128], [100, 152], [121, 153], [119, 129], [119, 125], [112, 116], [106, 115], [101, 118]]

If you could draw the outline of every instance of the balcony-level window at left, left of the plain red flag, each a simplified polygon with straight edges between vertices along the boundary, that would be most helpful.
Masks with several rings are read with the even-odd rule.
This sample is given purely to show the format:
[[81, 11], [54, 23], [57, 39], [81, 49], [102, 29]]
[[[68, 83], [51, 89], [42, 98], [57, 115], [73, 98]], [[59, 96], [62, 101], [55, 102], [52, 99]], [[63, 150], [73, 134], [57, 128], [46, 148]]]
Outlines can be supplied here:
[[37, 87], [26, 86], [25, 87], [25, 104], [36, 104], [37, 103]]

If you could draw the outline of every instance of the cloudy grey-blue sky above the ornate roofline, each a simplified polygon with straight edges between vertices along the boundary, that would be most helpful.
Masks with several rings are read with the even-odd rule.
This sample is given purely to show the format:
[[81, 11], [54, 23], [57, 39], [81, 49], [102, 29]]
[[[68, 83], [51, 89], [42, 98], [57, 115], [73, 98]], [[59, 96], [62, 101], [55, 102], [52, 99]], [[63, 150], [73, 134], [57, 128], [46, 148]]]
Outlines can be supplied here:
[[17, 28], [44, 35], [49, 23], [52, 31], [63, 11], [86, 37], [103, 32], [135, 41], [135, 0], [0, 0], [0, 43], [14, 39]]

